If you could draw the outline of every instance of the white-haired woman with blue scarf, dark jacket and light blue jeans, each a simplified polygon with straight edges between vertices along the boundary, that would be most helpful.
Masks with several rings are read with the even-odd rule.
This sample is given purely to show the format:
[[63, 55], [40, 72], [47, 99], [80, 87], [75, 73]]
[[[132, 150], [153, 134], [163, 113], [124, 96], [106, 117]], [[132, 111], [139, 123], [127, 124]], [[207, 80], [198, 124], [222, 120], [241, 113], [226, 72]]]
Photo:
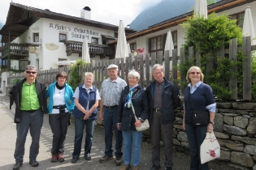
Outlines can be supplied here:
[[[120, 170], [131, 168], [132, 147], [132, 169], [139, 169], [143, 131], [137, 131], [136, 126], [141, 126], [141, 122], [148, 117], [149, 112], [148, 99], [145, 90], [138, 84], [139, 80], [140, 74], [136, 70], [131, 70], [128, 73], [128, 86], [124, 87], [119, 100], [116, 126], [118, 130], [122, 130], [124, 138], [124, 166]], [[132, 106], [138, 118], [137, 121], [133, 115]]]

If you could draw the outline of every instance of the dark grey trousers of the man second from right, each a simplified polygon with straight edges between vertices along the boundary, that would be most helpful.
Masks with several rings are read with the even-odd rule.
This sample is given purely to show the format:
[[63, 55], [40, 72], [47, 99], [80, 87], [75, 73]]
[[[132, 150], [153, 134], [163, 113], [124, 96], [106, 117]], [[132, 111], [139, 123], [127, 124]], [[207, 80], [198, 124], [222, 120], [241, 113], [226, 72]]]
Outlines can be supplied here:
[[163, 136], [164, 153], [165, 153], [165, 167], [172, 167], [173, 155], [173, 123], [162, 123], [162, 113], [154, 112], [153, 119], [150, 122], [150, 135], [151, 135], [151, 151], [152, 151], [152, 164], [160, 165], [160, 140], [161, 134]]

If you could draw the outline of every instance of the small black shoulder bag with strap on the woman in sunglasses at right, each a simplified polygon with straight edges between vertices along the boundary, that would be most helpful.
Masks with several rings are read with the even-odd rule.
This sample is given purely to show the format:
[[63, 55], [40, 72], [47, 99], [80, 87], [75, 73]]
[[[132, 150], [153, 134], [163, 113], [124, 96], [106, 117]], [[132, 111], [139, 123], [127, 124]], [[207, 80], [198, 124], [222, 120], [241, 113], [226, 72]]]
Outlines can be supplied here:
[[193, 110], [190, 96], [191, 96], [191, 94], [190, 94], [190, 87], [189, 87], [189, 104], [190, 104], [190, 109], [191, 109], [193, 125], [194, 126], [208, 125], [209, 121], [210, 121], [210, 115], [209, 115], [208, 110]]

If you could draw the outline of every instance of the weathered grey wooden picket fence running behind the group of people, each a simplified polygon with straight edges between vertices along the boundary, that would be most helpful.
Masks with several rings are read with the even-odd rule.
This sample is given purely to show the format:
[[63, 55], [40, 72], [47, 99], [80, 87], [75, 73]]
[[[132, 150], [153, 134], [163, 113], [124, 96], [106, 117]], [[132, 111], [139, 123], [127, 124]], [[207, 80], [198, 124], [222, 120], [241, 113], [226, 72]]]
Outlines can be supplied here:
[[[251, 45], [251, 39], [249, 36], [243, 37], [243, 43], [242, 47], [237, 47], [237, 40], [233, 39], [231, 40], [231, 43], [229, 45], [229, 49], [221, 48], [219, 49], [219, 57], [224, 57], [226, 53], [229, 53], [229, 59], [232, 61], [236, 61], [236, 53], [239, 51], [242, 51], [245, 53], [246, 59], [243, 62], [244, 70], [243, 70], [243, 100], [251, 100], [251, 94], [250, 90], [252, 87], [252, 79], [251, 79], [251, 62], [252, 57], [251, 53], [253, 50], [256, 50], [256, 45]], [[169, 51], [165, 51], [164, 56], [163, 52], [158, 53], [146, 53], [143, 57], [143, 60], [140, 60], [140, 57], [135, 56], [132, 57], [130, 55], [129, 57], [124, 58], [115, 58], [113, 60], [107, 60], [102, 62], [95, 62], [93, 61], [86, 67], [82, 67], [79, 69], [77, 74], [80, 74], [82, 81], [81, 84], [84, 81], [84, 73], [89, 71], [93, 72], [94, 74], [94, 85], [95, 87], [98, 87], [98, 89], [101, 89], [102, 81], [106, 79], [107, 76], [107, 70], [106, 67], [110, 64], [116, 64], [119, 66], [119, 77], [122, 79], [127, 79], [127, 74], [125, 74], [126, 70], [139, 70], [141, 74], [140, 79], [140, 85], [141, 87], [145, 87], [146, 84], [150, 83], [150, 80], [152, 79], [151, 76], [151, 68], [154, 66], [154, 64], [158, 63], [165, 67], [165, 78], [168, 80], [173, 81], [174, 79], [180, 79], [182, 82], [185, 82], [185, 77], [178, 76], [178, 70], [176, 70], [176, 66], [178, 65], [178, 62], [184, 63], [186, 59], [194, 58], [194, 66], [200, 66], [200, 53], [196, 52], [194, 53], [193, 47], [189, 47], [189, 55], [186, 56], [184, 54], [184, 49], [180, 49], [180, 56], [178, 56], [177, 49], [172, 50], [172, 57], [168, 57]], [[158, 57], [156, 57], [158, 56]], [[206, 76], [207, 74], [210, 74], [210, 70], [213, 67], [212, 61], [213, 57], [210, 57], [208, 62], [206, 63]], [[143, 62], [141, 62], [143, 61]], [[172, 66], [170, 66], [170, 63], [172, 63]], [[141, 69], [143, 68], [143, 69]], [[67, 73], [70, 73], [71, 69], [68, 67], [64, 68], [58, 68], [58, 69], [51, 69], [51, 70], [39, 70], [37, 74], [37, 79], [41, 81], [42, 83], [46, 83], [46, 86], [48, 87], [50, 83], [53, 83], [55, 81], [55, 76], [58, 73], [59, 70], [66, 71]], [[232, 68], [233, 72], [237, 72], [237, 68]], [[24, 74], [10, 74], [8, 76], [8, 86], [12, 85], [12, 82], [14, 79], [23, 79]], [[232, 99], [237, 99], [237, 79], [236, 78], [230, 78], [230, 90], [233, 91]], [[184, 89], [180, 89], [181, 95], [184, 95]]]

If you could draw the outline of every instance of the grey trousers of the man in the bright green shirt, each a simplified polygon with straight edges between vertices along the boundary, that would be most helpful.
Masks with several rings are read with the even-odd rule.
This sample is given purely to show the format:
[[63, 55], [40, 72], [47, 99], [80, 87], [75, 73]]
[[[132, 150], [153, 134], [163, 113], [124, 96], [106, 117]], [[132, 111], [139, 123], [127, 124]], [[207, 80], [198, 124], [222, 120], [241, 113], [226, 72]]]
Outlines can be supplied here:
[[16, 124], [17, 138], [14, 154], [15, 161], [23, 162], [28, 129], [30, 131], [30, 136], [32, 137], [32, 142], [29, 149], [29, 159], [35, 160], [39, 153], [39, 139], [44, 115], [41, 112], [41, 109], [37, 109], [33, 113], [28, 113], [24, 111], [20, 112], [21, 121], [20, 123]]

